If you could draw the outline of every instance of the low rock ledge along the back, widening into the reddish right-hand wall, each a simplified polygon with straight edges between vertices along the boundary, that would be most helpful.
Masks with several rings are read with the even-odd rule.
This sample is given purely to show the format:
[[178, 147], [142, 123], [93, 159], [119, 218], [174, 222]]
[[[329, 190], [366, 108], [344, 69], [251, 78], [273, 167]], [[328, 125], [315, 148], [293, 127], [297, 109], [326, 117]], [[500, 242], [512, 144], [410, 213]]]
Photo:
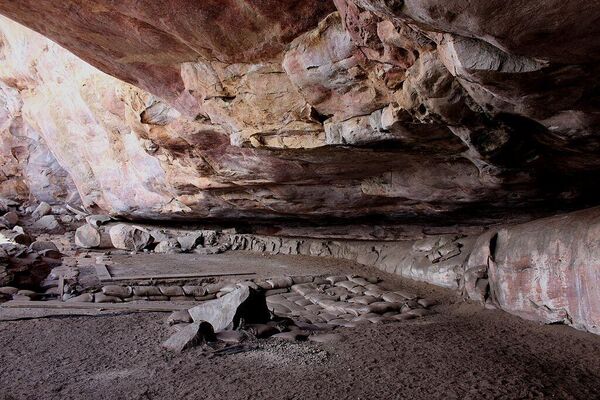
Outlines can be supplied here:
[[600, 334], [600, 208], [479, 235], [359, 241], [223, 235], [232, 249], [345, 258], [521, 317]]

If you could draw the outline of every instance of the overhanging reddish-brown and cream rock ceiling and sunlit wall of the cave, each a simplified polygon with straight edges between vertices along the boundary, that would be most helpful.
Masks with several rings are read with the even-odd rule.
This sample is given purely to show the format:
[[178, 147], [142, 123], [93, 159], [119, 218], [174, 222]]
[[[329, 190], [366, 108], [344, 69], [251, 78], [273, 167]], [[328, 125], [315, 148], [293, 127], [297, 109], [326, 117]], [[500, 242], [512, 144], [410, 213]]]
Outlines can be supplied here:
[[465, 7], [0, 1], [147, 92], [8, 20], [0, 81], [113, 214], [481, 223], [597, 203], [598, 5]]

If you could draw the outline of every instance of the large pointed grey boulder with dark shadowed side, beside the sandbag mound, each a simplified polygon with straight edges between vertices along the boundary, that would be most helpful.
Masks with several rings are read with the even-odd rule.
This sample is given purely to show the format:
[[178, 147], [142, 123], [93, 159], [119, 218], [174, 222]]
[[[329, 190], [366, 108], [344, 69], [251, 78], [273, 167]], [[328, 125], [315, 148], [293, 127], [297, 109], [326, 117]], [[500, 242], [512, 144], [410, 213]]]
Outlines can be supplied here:
[[194, 321], [209, 322], [215, 332], [236, 329], [242, 320], [247, 324], [259, 324], [270, 319], [264, 295], [248, 287], [206, 301], [189, 311]]

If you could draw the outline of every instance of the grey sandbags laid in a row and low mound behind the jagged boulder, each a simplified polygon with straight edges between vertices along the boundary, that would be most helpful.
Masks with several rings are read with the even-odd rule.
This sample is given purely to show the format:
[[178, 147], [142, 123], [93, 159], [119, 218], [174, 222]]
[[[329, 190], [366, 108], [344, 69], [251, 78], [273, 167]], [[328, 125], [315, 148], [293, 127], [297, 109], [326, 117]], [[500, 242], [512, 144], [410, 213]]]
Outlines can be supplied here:
[[362, 323], [407, 320], [432, 314], [435, 302], [407, 290], [384, 289], [376, 278], [359, 276], [284, 276], [266, 280], [201, 285], [106, 285], [67, 301], [209, 301], [240, 288], [261, 292], [269, 309], [281, 317], [308, 323], [354, 327]]

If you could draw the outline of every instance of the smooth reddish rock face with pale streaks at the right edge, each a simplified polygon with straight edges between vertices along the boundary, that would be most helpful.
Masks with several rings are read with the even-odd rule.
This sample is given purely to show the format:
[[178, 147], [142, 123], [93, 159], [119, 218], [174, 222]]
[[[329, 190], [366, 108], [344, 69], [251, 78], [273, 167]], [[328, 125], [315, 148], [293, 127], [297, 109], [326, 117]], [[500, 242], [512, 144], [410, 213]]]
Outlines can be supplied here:
[[524, 318], [600, 333], [600, 210], [498, 232], [488, 271], [492, 296]]

